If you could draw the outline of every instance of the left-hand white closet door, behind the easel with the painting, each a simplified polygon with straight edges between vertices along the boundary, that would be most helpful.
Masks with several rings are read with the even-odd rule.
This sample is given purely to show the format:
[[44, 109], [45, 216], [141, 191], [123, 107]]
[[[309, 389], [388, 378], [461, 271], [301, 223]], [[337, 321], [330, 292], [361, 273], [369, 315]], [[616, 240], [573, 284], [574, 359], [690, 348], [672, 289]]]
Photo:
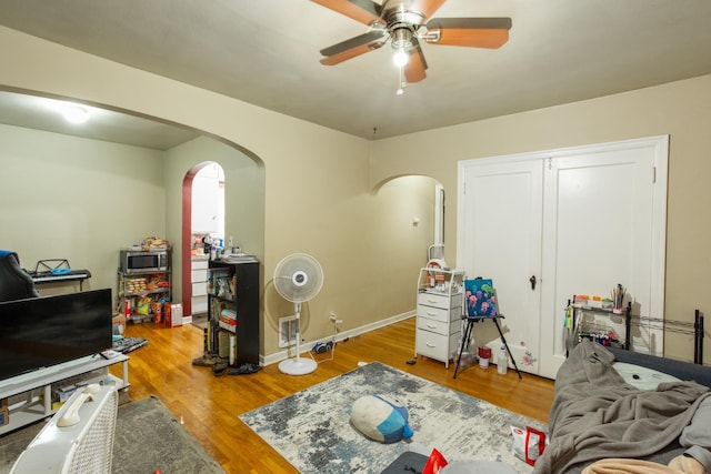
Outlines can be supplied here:
[[[472, 160], [460, 169], [463, 205], [459, 209], [459, 268], [467, 278], [491, 278], [497, 289], [501, 326], [519, 367], [538, 373], [538, 362], [527, 356], [539, 346], [541, 268], [541, 160]], [[498, 353], [499, 333], [491, 322], [474, 327], [477, 345]], [[525, 361], [525, 362], [521, 362]]]

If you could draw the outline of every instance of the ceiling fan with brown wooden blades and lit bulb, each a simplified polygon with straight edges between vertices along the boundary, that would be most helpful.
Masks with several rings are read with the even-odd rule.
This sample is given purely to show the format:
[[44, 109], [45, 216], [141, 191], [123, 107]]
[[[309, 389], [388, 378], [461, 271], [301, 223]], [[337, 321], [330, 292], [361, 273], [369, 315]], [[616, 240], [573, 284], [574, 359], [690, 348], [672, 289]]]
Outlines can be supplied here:
[[321, 64], [334, 65], [391, 42], [407, 82], [427, 77], [420, 40], [430, 44], [497, 49], [509, 40], [510, 18], [428, 18], [445, 0], [312, 0], [371, 28], [321, 50]]

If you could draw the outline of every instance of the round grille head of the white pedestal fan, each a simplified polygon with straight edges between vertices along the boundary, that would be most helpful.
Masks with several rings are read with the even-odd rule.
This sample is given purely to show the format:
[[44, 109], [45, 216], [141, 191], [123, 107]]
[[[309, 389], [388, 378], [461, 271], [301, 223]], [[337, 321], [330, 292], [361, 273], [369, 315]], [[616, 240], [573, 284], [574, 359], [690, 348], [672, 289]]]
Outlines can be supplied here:
[[274, 288], [284, 300], [301, 303], [316, 296], [323, 285], [323, 270], [306, 253], [293, 253], [277, 264]]

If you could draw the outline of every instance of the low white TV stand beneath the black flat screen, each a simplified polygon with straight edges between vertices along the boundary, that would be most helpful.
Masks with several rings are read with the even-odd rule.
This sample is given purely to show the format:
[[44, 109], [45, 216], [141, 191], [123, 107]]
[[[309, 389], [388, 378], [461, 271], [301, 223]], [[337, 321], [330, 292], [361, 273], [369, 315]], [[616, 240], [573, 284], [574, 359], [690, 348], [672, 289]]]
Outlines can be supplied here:
[[[108, 380], [118, 389], [128, 390], [129, 359], [128, 355], [120, 354], [107, 360], [96, 354], [0, 381], [0, 400], [27, 394], [23, 401], [10, 404], [9, 423], [0, 427], [0, 435], [54, 414], [58, 407], [52, 406], [52, 384], [57, 382], [86, 376], [82, 382], [97, 383]], [[121, 379], [109, 374], [108, 371], [109, 366], [119, 363]], [[41, 392], [41, 396], [38, 392]]]

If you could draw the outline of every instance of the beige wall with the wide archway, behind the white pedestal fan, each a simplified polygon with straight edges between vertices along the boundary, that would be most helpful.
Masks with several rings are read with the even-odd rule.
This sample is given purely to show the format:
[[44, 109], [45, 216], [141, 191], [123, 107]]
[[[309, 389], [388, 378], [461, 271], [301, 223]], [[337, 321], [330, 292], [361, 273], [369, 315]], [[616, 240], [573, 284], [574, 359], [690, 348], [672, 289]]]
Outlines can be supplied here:
[[[326, 272], [322, 293], [304, 309], [304, 337], [309, 340], [330, 334], [330, 311], [344, 321], [341, 330], [350, 331], [377, 326], [413, 310], [417, 270], [432, 240], [424, 216], [432, 212], [432, 204], [412, 199], [413, 190], [421, 189], [421, 181], [414, 178], [373, 190], [369, 141], [7, 28], [0, 28], [0, 44], [2, 88], [76, 98], [186, 124], [239, 144], [263, 167], [263, 203], [259, 198], [254, 205], [263, 206], [264, 212], [254, 225], [263, 226], [264, 235], [264, 354], [278, 351], [278, 317], [292, 312], [271, 286], [276, 264], [292, 252], [311, 253]], [[196, 158], [194, 164], [206, 160]], [[166, 161], [163, 229], [176, 243], [180, 222], [177, 184], [189, 165], [184, 157], [174, 164]], [[261, 179], [259, 168], [250, 173]], [[249, 214], [237, 209], [228, 212], [228, 222], [232, 212], [238, 218]], [[411, 214], [419, 214], [422, 224], [412, 226]], [[234, 233], [249, 250], [248, 243], [239, 241], [239, 229]]]

